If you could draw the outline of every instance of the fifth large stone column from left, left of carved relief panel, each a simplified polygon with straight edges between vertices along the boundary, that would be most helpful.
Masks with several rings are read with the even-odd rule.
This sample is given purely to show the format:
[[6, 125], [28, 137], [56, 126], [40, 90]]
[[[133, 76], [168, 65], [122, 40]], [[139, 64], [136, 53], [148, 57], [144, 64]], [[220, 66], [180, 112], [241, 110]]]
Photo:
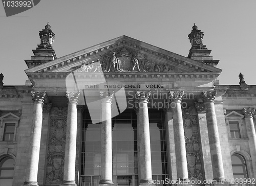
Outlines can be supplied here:
[[170, 91], [169, 97], [171, 101], [171, 107], [173, 108], [173, 122], [174, 122], [174, 143], [176, 153], [176, 166], [177, 166], [177, 178], [179, 183], [189, 183], [188, 171], [187, 171], [187, 157], [186, 157], [186, 145], [185, 134], [183, 128], [183, 118], [181, 110], [181, 100], [184, 95], [183, 91]]

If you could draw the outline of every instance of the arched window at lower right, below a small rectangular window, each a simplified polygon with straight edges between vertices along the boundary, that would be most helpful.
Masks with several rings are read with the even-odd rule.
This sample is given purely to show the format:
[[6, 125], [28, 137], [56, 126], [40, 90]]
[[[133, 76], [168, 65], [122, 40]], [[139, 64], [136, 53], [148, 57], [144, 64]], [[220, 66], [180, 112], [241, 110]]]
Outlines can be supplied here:
[[[234, 154], [231, 156], [231, 162], [232, 162], [232, 169], [233, 169], [233, 175], [234, 175], [234, 179], [237, 180], [239, 179], [244, 179], [244, 178], [248, 178], [248, 174], [247, 174], [247, 169], [246, 169], [246, 162], [243, 156], [241, 156], [240, 154]], [[241, 180], [242, 180], [241, 179]], [[248, 185], [246, 182], [244, 184], [237, 184], [237, 185], [242, 185], [242, 186], [246, 186]]]

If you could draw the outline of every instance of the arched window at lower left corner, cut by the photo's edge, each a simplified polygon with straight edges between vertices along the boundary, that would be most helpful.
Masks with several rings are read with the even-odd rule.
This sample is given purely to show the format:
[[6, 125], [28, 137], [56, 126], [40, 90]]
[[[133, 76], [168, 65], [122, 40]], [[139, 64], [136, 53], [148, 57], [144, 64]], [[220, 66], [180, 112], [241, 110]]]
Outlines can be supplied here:
[[12, 186], [15, 161], [5, 157], [0, 161], [0, 185]]

